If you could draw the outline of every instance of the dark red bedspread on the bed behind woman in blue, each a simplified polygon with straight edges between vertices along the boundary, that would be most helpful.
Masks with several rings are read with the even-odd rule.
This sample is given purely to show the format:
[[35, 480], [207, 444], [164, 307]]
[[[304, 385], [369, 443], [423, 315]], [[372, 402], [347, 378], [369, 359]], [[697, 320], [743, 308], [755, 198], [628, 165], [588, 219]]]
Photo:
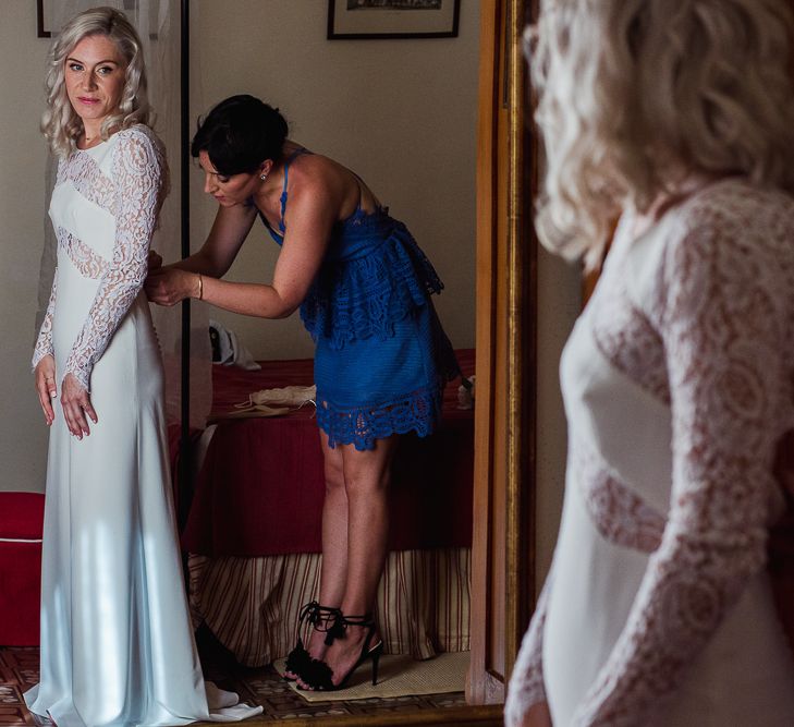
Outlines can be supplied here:
[[[466, 375], [474, 351], [457, 352]], [[212, 415], [259, 389], [310, 385], [310, 360], [260, 362], [260, 372], [216, 366]], [[457, 409], [454, 381], [430, 437], [402, 437], [390, 489], [389, 548], [472, 543], [474, 413]], [[271, 419], [219, 420], [198, 473], [183, 546], [209, 556], [319, 553], [322, 452], [314, 408]]]

